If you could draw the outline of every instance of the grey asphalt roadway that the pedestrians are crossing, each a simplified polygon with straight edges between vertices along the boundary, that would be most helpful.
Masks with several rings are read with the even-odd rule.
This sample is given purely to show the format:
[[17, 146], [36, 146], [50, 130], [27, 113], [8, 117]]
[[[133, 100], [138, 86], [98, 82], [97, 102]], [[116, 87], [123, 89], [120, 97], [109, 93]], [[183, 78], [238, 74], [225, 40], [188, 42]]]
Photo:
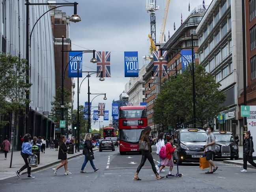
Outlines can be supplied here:
[[[153, 159], [155, 164], [159, 156], [153, 147]], [[11, 177], [0, 181], [0, 191], [8, 192], [38, 192], [59, 191], [67, 189], [72, 191], [101, 191], [101, 192], [148, 192], [148, 191], [176, 191], [176, 192], [255, 192], [256, 170], [248, 168], [247, 173], [241, 173], [243, 168], [235, 164], [226, 164], [222, 160], [216, 160], [219, 167], [213, 174], [205, 174], [208, 170], [201, 170], [198, 163], [183, 163], [179, 166], [179, 173], [182, 177], [163, 178], [156, 180], [148, 160], [142, 167], [139, 177], [142, 181], [133, 181], [133, 176], [140, 164], [141, 155], [126, 154], [120, 155], [118, 147], [116, 151], [95, 151], [95, 166], [99, 171], [94, 172], [90, 163], [86, 164], [84, 171], [80, 168], [84, 161], [83, 155], [71, 158], [68, 163], [68, 170], [72, 175], [64, 175], [64, 168], [58, 170], [57, 175], [50, 166], [32, 173], [34, 179], [27, 179], [26, 175], [21, 178]], [[160, 175], [166, 175], [168, 168]], [[174, 164], [172, 173], [177, 172], [177, 165]]]

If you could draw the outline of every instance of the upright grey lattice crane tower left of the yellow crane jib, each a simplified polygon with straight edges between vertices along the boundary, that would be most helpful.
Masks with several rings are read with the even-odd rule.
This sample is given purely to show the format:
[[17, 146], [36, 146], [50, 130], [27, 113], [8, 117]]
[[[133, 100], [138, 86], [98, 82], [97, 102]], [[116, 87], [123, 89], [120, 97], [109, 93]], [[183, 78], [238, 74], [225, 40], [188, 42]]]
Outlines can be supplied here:
[[155, 11], [159, 10], [159, 6], [156, 6], [156, 0], [147, 0], [146, 6], [147, 13], [150, 14], [150, 28], [151, 28], [151, 38], [154, 43], [155, 39]]

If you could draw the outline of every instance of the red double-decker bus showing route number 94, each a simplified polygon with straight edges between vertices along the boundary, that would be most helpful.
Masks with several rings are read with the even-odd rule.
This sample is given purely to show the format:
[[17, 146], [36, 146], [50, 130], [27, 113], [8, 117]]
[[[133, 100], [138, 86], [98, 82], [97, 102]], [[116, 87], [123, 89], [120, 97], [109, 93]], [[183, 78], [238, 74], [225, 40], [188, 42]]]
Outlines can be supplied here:
[[139, 138], [148, 126], [145, 106], [123, 106], [119, 109], [119, 151], [139, 152]]

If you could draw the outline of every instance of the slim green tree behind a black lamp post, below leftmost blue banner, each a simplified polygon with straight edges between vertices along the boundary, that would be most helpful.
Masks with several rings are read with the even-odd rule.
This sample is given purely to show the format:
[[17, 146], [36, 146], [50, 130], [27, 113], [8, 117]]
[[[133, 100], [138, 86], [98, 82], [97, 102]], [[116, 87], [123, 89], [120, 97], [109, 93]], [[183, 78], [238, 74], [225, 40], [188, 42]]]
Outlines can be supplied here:
[[[55, 122], [59, 122], [61, 120], [61, 96], [62, 90], [61, 87], [57, 88], [56, 95], [54, 97], [54, 101], [51, 102], [52, 109], [51, 113]], [[64, 88], [64, 120], [66, 121], [66, 126], [71, 125], [71, 93], [69, 90]]]

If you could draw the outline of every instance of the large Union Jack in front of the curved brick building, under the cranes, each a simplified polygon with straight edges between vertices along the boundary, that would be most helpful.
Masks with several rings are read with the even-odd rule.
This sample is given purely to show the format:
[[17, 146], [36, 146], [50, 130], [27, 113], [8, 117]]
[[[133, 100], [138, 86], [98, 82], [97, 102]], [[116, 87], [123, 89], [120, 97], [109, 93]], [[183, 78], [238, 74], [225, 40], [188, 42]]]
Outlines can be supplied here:
[[153, 51], [154, 57], [154, 76], [168, 76], [167, 70], [167, 51], [162, 52], [162, 56], [165, 58], [165, 61], [159, 61], [160, 51]]

